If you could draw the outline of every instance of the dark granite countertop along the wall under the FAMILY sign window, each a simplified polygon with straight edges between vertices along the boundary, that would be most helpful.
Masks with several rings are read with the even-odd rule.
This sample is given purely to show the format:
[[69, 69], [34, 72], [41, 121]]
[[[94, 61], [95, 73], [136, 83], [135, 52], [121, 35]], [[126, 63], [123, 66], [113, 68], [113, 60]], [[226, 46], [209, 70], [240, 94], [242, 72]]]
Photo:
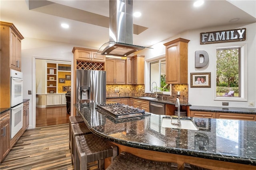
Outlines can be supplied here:
[[256, 114], [256, 109], [254, 108], [241, 108], [241, 107], [190, 106], [190, 111]]

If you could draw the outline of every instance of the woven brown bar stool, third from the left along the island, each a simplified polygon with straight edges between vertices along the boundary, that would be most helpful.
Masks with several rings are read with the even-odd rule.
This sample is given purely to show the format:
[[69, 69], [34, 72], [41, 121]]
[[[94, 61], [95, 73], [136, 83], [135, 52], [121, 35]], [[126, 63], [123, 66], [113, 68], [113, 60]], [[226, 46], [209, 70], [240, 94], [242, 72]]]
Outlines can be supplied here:
[[87, 164], [98, 161], [98, 169], [104, 169], [104, 159], [117, 156], [117, 147], [112, 142], [94, 134], [76, 136], [75, 170], [87, 170]]

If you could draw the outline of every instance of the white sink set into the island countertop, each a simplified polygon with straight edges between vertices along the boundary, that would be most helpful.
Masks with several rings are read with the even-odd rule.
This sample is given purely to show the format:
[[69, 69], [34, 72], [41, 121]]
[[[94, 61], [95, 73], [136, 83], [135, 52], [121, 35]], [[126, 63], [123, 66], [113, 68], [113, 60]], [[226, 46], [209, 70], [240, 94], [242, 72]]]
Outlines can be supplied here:
[[[172, 119], [172, 123], [177, 123], [178, 119]], [[171, 124], [170, 118], [163, 118], [162, 119], [162, 127], [174, 128], [174, 129], [188, 129], [188, 130], [195, 130], [197, 131], [198, 128], [196, 127], [195, 123], [190, 119], [180, 119], [181, 127], [179, 128], [176, 125]]]

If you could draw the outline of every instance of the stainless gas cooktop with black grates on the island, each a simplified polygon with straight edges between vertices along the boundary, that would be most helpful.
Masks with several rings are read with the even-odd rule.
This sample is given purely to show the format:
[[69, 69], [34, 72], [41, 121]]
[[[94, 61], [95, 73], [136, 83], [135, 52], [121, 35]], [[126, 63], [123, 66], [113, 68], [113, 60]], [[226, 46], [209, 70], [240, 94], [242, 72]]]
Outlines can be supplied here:
[[127, 106], [125, 104], [119, 104], [119, 103], [97, 104], [97, 107], [98, 109], [110, 115], [114, 119], [122, 119], [122, 118], [137, 117], [137, 116], [145, 115], [144, 110]]

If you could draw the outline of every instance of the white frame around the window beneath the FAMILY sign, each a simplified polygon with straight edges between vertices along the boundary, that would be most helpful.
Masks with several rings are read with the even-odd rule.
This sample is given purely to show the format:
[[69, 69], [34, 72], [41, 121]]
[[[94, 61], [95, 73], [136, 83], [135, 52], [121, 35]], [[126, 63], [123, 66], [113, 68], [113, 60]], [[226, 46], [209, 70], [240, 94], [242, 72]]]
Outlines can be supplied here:
[[[216, 51], [217, 49], [228, 49], [228, 48], [240, 48], [240, 97], [218, 97], [216, 96], [216, 68], [217, 68], [217, 62], [216, 62]], [[214, 100], [219, 101], [247, 101], [248, 97], [248, 54], [247, 54], [247, 43], [241, 44], [241, 43], [222, 43], [220, 45], [214, 46]]]

